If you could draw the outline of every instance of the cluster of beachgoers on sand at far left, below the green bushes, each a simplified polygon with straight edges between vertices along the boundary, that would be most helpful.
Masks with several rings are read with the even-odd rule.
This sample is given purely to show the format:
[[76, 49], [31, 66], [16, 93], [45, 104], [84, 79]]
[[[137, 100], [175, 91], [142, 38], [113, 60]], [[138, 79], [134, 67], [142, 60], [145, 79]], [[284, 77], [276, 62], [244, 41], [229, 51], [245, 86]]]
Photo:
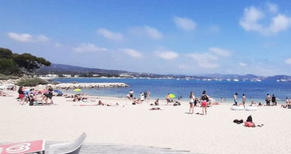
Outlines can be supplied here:
[[[28, 104], [33, 106], [34, 101], [42, 103], [45, 101], [46, 105], [53, 104], [53, 88], [48, 86], [47, 92], [35, 91], [34, 89], [24, 89], [23, 86], [18, 89], [19, 105]], [[50, 99], [50, 104], [48, 103]]]

